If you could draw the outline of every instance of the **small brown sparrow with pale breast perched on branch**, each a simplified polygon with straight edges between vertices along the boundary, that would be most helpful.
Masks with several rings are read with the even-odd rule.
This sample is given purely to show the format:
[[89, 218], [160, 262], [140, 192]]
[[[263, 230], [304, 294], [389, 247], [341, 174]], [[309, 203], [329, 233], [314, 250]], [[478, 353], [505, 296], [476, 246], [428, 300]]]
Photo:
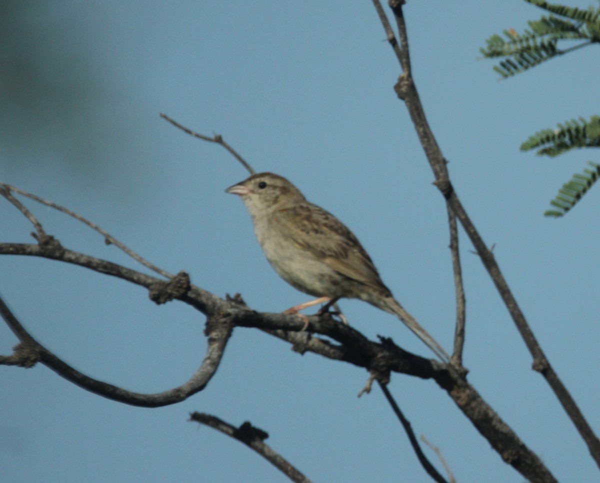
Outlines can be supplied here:
[[394, 314], [438, 358], [449, 361], [448, 353], [385, 286], [358, 238], [334, 215], [310, 203], [290, 181], [274, 173], [253, 173], [225, 191], [241, 197], [275, 272], [301, 292], [317, 297], [285, 313], [322, 303], [328, 308], [341, 298], [360, 299]]

